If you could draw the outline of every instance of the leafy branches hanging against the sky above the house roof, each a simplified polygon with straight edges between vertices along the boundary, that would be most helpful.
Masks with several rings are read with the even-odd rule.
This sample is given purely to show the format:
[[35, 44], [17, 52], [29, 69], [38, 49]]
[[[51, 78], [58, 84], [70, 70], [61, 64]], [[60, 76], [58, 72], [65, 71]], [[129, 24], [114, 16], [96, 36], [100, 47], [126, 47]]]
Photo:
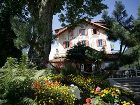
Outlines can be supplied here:
[[67, 0], [63, 7], [65, 12], [62, 12], [59, 17], [62, 25], [65, 23], [74, 24], [79, 19], [92, 19], [106, 8], [107, 6], [102, 3], [102, 0]]

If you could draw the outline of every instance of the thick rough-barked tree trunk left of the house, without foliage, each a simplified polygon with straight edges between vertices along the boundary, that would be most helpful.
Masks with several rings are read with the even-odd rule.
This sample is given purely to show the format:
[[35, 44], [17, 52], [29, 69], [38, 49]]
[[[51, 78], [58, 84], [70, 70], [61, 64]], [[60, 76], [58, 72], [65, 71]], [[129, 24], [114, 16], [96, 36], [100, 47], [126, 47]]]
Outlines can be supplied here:
[[[54, 14], [55, 0], [40, 0], [33, 2], [29, 0], [29, 9], [31, 16], [37, 28], [36, 45], [33, 45], [36, 52], [39, 54], [39, 69], [45, 68], [49, 61], [49, 54], [52, 42], [52, 20]], [[39, 38], [37, 38], [39, 36]], [[38, 48], [36, 48], [38, 47]], [[38, 63], [38, 62], [37, 62]]]

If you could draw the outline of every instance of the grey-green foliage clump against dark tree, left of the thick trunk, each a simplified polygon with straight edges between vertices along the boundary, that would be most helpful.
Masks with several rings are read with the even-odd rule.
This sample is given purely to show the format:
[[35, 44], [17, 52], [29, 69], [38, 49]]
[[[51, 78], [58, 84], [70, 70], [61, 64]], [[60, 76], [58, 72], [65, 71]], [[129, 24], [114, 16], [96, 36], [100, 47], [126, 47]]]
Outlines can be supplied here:
[[17, 36], [14, 42], [19, 49], [29, 47], [29, 37], [32, 35], [30, 21], [31, 20], [21, 21], [21, 19], [17, 16], [11, 19], [12, 29]]

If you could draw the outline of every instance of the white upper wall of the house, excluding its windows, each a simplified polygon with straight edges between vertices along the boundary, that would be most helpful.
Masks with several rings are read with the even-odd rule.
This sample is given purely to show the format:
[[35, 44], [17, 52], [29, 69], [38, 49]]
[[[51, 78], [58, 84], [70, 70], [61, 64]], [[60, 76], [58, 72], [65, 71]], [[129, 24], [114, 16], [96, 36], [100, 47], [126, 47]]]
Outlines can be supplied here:
[[[97, 29], [97, 34], [93, 34], [93, 29], [95, 28]], [[85, 35], [79, 35], [80, 29], [85, 29]], [[98, 39], [102, 39], [104, 41], [102, 44], [103, 46], [105, 45], [105, 51], [107, 53], [111, 53], [110, 41], [107, 40], [106, 32], [102, 28], [98, 28], [89, 24], [82, 24], [75, 27], [72, 31], [65, 31], [57, 38], [57, 49], [59, 56], [65, 56], [68, 49], [82, 40], [86, 40], [86, 44], [89, 47], [101, 51], [103, 46], [98, 46]], [[64, 48], [64, 41], [70, 41], [69, 48]]]

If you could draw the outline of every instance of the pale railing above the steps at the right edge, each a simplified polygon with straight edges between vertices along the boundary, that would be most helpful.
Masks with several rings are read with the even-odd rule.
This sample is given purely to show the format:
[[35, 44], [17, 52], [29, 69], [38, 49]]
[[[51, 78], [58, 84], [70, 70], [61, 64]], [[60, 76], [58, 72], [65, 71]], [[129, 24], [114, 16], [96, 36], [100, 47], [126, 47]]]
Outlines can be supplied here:
[[111, 78], [131, 78], [140, 77], [140, 70], [118, 70]]

